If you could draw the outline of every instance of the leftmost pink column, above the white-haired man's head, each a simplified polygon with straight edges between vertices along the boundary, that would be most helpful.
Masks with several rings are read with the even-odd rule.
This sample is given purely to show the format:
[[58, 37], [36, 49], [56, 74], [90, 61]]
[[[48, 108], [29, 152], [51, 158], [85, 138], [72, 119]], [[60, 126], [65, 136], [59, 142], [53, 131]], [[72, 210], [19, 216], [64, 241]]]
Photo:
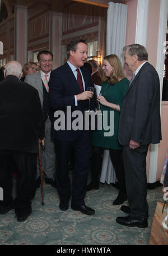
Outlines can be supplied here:
[[15, 60], [27, 62], [27, 7], [15, 5]]

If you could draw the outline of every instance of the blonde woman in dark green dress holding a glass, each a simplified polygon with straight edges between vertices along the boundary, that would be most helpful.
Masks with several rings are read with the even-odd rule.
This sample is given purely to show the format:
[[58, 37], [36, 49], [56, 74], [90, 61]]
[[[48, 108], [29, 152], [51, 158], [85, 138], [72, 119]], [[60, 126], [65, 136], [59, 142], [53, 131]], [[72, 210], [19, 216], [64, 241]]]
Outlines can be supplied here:
[[[105, 136], [104, 126], [102, 130], [94, 131], [92, 142], [92, 160], [91, 160], [91, 182], [87, 186], [87, 191], [99, 189], [99, 176], [101, 172], [101, 154], [105, 148], [109, 149], [111, 162], [115, 168], [115, 174], [119, 181], [119, 194], [114, 200], [114, 205], [122, 204], [126, 199], [125, 176], [122, 160], [122, 145], [118, 141], [118, 124], [122, 100], [127, 93], [129, 81], [124, 76], [122, 63], [118, 56], [111, 54], [104, 57], [102, 63], [104, 71], [104, 81], [102, 83], [100, 95], [97, 96], [97, 102], [100, 104], [102, 115], [104, 111], [108, 113], [108, 126], [111, 123], [110, 111], [114, 111], [114, 134]], [[112, 115], [111, 115], [112, 116]], [[102, 119], [102, 121], [104, 121]]]

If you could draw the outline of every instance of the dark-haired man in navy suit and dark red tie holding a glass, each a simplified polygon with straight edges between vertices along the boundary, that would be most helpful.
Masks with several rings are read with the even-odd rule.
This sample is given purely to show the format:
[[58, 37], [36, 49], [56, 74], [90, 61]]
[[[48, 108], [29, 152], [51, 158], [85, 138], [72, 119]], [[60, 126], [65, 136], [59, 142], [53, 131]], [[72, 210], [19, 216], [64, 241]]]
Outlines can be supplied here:
[[[87, 176], [89, 170], [89, 159], [91, 149], [91, 131], [74, 130], [73, 121], [69, 119], [67, 107], [74, 111], [80, 111], [85, 116], [88, 110], [95, 110], [93, 92], [87, 90], [88, 86], [94, 86], [90, 72], [83, 67], [87, 59], [87, 44], [85, 40], [72, 40], [67, 46], [67, 62], [52, 71], [49, 81], [50, 106], [55, 113], [64, 114], [65, 129], [55, 129], [54, 139], [57, 157], [56, 184], [58, 188], [62, 211], [67, 211], [69, 199], [74, 211], [92, 215], [94, 209], [87, 207], [84, 202], [86, 195]], [[55, 116], [55, 114], [54, 114]], [[84, 118], [83, 118], [84, 119]], [[71, 181], [68, 176], [68, 161], [72, 150], [74, 150], [74, 170], [71, 189]], [[72, 190], [72, 191], [71, 191]]]

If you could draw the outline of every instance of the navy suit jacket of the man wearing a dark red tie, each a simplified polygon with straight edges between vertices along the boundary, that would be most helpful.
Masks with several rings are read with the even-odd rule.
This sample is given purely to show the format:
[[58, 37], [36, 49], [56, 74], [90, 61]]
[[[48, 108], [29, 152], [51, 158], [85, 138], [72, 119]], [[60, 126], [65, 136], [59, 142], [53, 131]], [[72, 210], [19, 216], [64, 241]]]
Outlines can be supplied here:
[[[85, 90], [87, 90], [88, 86], [93, 86], [94, 84], [91, 79], [91, 74], [85, 67], [81, 67], [83, 79], [85, 80]], [[65, 115], [65, 121], [67, 121], [67, 106], [71, 106], [73, 111], [81, 111], [84, 113], [88, 110], [88, 100], [80, 100], [78, 101], [77, 106], [75, 106], [74, 95], [80, 94], [80, 86], [77, 83], [76, 77], [74, 76], [71, 68], [68, 63], [56, 68], [51, 72], [50, 80], [49, 80], [49, 102], [50, 107], [55, 111], [63, 111]], [[95, 111], [95, 99], [92, 98], [90, 101], [90, 109]], [[58, 117], [59, 118], [59, 117]], [[75, 118], [72, 118], [72, 121]], [[54, 121], [56, 118], [54, 118]], [[69, 124], [68, 124], [69, 125]], [[55, 139], [66, 140], [66, 141], [74, 141], [76, 140], [81, 132], [90, 132], [90, 131], [73, 131], [67, 130], [67, 122], [66, 129], [56, 131], [54, 129], [53, 136]]]

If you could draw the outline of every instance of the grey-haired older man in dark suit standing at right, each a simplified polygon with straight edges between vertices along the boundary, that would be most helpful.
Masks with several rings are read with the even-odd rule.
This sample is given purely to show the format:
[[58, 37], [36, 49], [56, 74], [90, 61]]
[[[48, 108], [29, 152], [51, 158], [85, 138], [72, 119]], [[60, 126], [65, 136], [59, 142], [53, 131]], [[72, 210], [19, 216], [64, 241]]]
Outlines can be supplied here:
[[125, 182], [129, 213], [116, 222], [129, 227], [147, 227], [146, 156], [148, 146], [160, 143], [160, 81], [155, 68], [147, 62], [148, 53], [143, 45], [124, 48], [125, 63], [134, 72], [120, 112], [119, 135], [123, 145]]

